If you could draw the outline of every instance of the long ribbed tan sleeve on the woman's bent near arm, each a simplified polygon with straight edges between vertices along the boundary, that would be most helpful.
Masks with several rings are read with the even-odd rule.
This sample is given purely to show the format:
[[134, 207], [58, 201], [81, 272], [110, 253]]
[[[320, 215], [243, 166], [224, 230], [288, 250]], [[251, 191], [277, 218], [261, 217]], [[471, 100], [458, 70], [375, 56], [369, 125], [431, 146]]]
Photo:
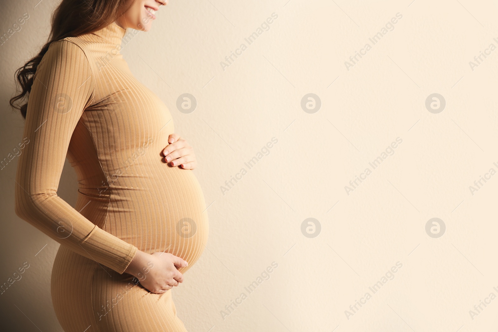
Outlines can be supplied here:
[[15, 185], [15, 213], [87, 258], [123, 273], [137, 248], [101, 229], [57, 196], [73, 131], [94, 98], [90, 63], [76, 44], [53, 42], [28, 99]]

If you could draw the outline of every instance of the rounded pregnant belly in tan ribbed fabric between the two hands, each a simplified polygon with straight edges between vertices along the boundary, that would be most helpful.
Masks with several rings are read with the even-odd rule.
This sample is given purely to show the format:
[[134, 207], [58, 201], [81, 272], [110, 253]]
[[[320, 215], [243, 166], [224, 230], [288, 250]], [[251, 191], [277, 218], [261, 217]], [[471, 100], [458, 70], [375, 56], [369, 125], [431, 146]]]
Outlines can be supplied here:
[[179, 256], [188, 269], [209, 232], [199, 182], [191, 170], [157, 162], [146, 166], [140, 169], [147, 174], [125, 174], [113, 184], [105, 230], [144, 252]]

